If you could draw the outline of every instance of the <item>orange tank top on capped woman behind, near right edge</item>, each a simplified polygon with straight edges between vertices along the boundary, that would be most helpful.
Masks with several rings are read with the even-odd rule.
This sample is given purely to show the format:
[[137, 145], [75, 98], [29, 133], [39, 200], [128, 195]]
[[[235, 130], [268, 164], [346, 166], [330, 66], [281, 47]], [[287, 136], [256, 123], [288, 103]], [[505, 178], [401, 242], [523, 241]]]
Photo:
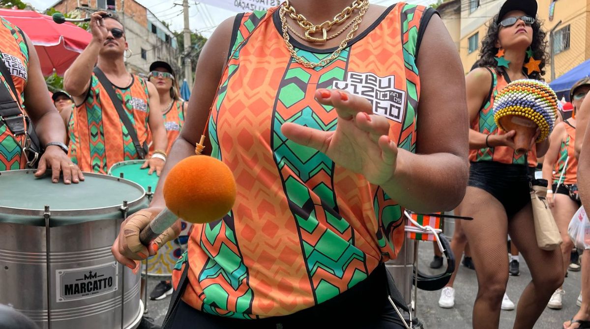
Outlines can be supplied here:
[[[576, 129], [568, 120], [563, 121], [563, 126], [568, 134], [559, 146], [559, 157], [553, 168], [553, 184], [571, 185], [578, 183], [578, 160], [573, 152], [573, 144], [576, 138]], [[563, 168], [565, 167], [565, 172]], [[563, 172], [563, 176], [562, 176]]]

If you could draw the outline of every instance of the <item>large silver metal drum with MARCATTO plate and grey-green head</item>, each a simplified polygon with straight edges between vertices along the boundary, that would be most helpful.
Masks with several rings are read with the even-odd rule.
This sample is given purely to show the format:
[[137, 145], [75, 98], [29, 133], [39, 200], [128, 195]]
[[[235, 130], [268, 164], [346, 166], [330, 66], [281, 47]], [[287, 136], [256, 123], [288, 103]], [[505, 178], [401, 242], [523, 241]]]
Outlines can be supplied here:
[[41, 328], [135, 328], [140, 276], [111, 246], [127, 214], [148, 206], [143, 188], [84, 173], [52, 183], [34, 170], [0, 172], [0, 304]]

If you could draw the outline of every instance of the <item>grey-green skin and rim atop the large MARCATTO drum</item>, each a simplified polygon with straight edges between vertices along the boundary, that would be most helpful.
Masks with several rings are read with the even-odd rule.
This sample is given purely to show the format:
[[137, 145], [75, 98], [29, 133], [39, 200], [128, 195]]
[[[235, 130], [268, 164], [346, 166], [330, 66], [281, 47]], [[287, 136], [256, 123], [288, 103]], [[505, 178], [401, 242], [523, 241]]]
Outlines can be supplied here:
[[41, 178], [33, 175], [34, 170], [0, 172], [0, 222], [13, 222], [5, 219], [11, 215], [21, 219], [43, 218], [45, 205], [49, 206], [52, 219], [76, 218], [77, 222], [96, 216], [122, 218], [124, 201], [129, 213], [147, 206], [141, 186], [116, 177], [84, 173], [83, 182], [65, 185], [61, 178], [59, 183], [51, 182], [51, 172]]

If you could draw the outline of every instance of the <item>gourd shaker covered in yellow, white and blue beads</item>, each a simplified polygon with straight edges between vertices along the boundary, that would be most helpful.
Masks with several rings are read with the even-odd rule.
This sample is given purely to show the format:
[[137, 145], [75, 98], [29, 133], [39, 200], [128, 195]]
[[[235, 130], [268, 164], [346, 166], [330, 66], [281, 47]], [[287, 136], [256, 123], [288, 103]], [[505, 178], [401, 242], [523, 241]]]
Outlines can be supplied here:
[[518, 153], [529, 150], [537, 129], [536, 142], [545, 140], [555, 126], [558, 100], [548, 84], [532, 79], [512, 81], [494, 101], [494, 121], [501, 130], [516, 131], [514, 145]]

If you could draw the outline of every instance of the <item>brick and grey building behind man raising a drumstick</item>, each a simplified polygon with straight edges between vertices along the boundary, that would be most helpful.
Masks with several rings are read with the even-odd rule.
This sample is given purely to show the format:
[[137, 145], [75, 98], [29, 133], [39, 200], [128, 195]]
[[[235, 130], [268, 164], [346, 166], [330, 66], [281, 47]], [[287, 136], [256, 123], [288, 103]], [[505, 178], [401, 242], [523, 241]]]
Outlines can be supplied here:
[[[53, 5], [60, 12], [86, 17], [88, 10], [110, 10], [117, 13], [125, 27], [130, 53], [127, 68], [146, 74], [153, 61], [166, 61], [179, 71], [178, 42], [175, 35], [145, 6], [134, 0], [61, 0]], [[80, 9], [84, 8], [84, 9]]]

